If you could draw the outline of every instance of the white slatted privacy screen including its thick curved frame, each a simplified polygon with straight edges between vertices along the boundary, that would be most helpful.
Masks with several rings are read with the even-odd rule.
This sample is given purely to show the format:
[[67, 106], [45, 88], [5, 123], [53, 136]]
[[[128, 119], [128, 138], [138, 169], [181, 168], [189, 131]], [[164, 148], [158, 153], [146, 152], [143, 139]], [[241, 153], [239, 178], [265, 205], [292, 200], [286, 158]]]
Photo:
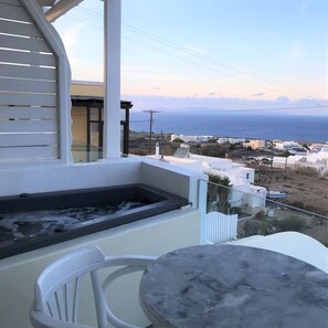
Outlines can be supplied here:
[[0, 163], [71, 161], [71, 71], [35, 0], [0, 0]]

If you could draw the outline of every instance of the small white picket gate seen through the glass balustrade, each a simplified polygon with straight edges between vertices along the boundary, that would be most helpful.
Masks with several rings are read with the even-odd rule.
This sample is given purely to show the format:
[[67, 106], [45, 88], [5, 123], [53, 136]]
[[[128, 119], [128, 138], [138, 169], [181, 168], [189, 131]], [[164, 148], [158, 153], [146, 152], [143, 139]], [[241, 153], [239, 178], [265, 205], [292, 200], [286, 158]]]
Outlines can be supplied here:
[[237, 214], [210, 212], [205, 215], [205, 242], [210, 244], [236, 239]]

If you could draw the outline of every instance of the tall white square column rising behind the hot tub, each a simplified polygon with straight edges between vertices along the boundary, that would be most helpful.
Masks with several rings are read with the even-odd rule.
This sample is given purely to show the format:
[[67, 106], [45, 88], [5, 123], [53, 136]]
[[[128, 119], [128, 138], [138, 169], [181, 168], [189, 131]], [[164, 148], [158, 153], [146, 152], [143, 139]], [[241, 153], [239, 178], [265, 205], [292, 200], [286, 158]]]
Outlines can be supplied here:
[[120, 157], [120, 0], [104, 1], [104, 158]]

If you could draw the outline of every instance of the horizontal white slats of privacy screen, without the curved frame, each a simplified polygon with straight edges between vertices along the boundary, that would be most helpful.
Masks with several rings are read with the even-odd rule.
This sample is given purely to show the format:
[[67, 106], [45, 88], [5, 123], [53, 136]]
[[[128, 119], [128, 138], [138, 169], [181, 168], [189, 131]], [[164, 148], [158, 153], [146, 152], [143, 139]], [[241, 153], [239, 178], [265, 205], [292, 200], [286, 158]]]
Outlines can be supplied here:
[[0, 0], [0, 161], [57, 159], [57, 61], [19, 0]]

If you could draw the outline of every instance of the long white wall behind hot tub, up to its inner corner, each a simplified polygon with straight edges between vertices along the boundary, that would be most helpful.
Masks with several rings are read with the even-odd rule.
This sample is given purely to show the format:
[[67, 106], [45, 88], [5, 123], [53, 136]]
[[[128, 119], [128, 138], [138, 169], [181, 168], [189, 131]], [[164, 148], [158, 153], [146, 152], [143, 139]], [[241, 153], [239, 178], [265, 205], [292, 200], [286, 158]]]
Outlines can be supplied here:
[[0, 168], [0, 197], [140, 183], [140, 159], [71, 166]]

